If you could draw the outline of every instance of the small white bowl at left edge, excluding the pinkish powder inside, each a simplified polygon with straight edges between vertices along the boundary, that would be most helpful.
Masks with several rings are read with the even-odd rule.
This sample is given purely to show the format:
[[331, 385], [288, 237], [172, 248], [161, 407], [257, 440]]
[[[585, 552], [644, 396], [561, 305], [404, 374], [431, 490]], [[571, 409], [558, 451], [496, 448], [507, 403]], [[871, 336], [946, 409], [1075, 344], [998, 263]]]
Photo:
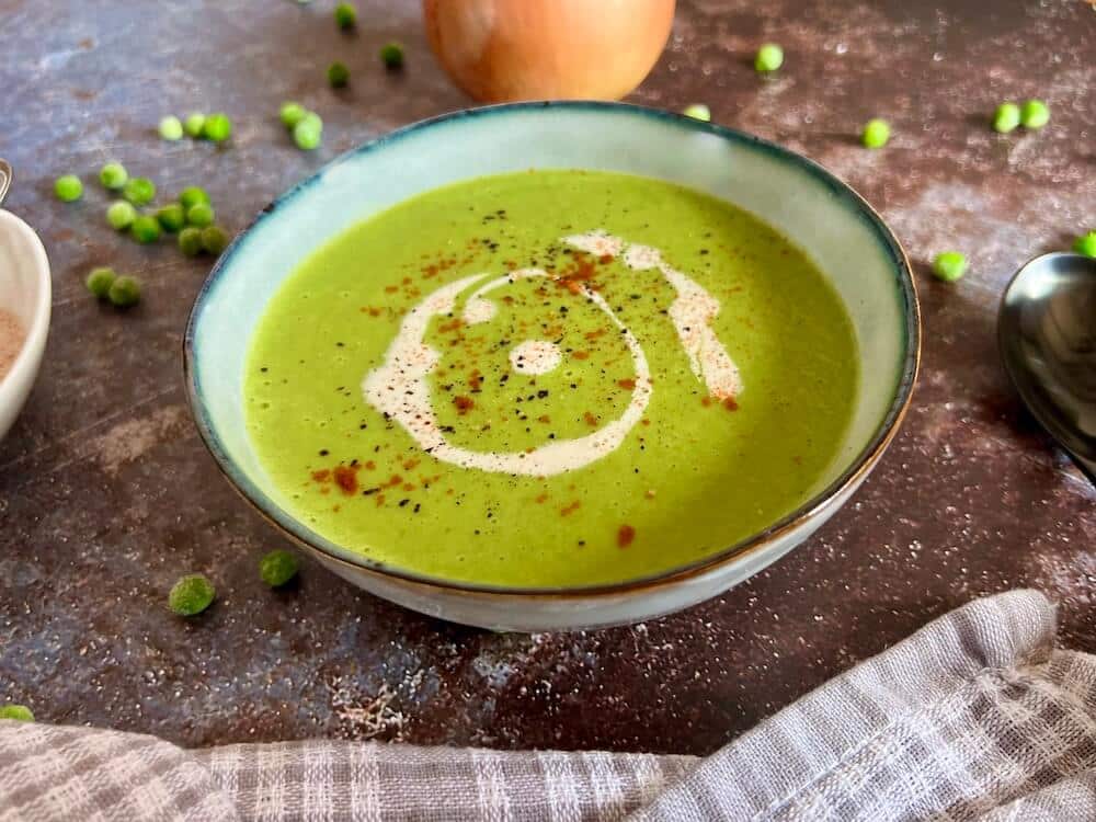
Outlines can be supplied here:
[[34, 230], [11, 212], [0, 210], [0, 308], [23, 327], [23, 347], [0, 378], [0, 439], [26, 402], [38, 376], [49, 333], [49, 261]]

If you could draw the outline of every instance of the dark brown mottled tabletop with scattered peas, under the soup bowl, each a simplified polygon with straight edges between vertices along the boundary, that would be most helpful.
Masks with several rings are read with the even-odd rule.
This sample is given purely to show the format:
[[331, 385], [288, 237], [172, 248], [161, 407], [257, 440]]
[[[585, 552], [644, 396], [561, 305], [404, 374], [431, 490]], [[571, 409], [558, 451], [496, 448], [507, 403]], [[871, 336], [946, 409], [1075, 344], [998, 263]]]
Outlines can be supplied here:
[[[279, 544], [220, 479], [184, 407], [180, 336], [208, 264], [105, 227], [105, 198], [50, 196], [110, 159], [161, 190], [207, 185], [232, 229], [338, 152], [461, 107], [427, 54], [418, 5], [361, 2], [356, 36], [331, 3], [0, 0], [0, 156], [8, 207], [54, 266], [42, 378], [0, 443], [0, 699], [42, 719], [186, 744], [331, 735], [502, 747], [704, 753], [856, 660], [980, 594], [1034, 585], [1066, 642], [1096, 651], [1096, 493], [1023, 413], [997, 363], [994, 317], [1013, 270], [1096, 226], [1096, 13], [1082, 0], [684, 0], [635, 94], [704, 101], [715, 117], [821, 161], [876, 205], [918, 265], [924, 370], [902, 434], [814, 539], [726, 596], [633, 628], [500, 636], [401, 610], [311, 563], [292, 591], [255, 574]], [[260, 8], [261, 7], [261, 8]], [[375, 59], [389, 38], [408, 68]], [[785, 68], [750, 68], [762, 38]], [[352, 87], [323, 82], [331, 59]], [[1040, 133], [998, 136], [987, 113], [1038, 95]], [[321, 113], [326, 146], [288, 146], [288, 98]], [[162, 114], [229, 112], [228, 149], [165, 144]], [[868, 152], [869, 116], [894, 126]], [[971, 271], [932, 282], [960, 249]], [[142, 276], [121, 316], [82, 276]], [[183, 623], [164, 595], [204, 571], [220, 598]]]

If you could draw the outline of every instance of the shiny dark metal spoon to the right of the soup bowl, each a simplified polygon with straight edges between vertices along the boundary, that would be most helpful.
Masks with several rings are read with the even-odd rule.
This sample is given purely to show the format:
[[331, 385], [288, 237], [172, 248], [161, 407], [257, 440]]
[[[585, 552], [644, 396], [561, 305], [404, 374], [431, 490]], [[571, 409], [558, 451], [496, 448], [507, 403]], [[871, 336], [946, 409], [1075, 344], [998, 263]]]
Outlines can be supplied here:
[[1096, 484], [1096, 258], [1043, 254], [1016, 272], [997, 344], [1020, 399]]

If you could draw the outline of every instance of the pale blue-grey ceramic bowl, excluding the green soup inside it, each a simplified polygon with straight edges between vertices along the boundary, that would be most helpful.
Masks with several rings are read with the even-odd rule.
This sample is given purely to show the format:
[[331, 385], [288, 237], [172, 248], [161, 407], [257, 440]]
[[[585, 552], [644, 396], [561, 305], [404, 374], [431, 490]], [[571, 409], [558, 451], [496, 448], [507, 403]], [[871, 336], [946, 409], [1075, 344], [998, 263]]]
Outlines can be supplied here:
[[[804, 249], [841, 294], [863, 388], [840, 455], [798, 510], [703, 561], [652, 579], [573, 589], [501, 589], [426, 578], [333, 545], [282, 503], [249, 442], [243, 373], [252, 330], [281, 283], [321, 243], [414, 194], [544, 168], [671, 181], [760, 216]], [[221, 256], [185, 336], [198, 429], [232, 484], [323, 564], [424, 614], [492, 629], [561, 630], [647, 619], [726, 591], [800, 544], [876, 465], [917, 372], [920, 316], [909, 261], [848, 186], [791, 151], [715, 124], [615, 103], [525, 103], [418, 123], [355, 149], [267, 207]]]

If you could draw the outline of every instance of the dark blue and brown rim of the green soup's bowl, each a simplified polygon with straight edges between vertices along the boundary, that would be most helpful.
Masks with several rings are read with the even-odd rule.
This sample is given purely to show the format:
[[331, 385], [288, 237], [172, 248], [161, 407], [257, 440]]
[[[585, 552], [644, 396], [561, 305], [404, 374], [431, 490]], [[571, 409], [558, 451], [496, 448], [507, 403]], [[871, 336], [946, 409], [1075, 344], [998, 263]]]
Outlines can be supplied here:
[[[591, 111], [603, 114], [652, 117], [664, 123], [673, 124], [686, 130], [711, 134], [730, 142], [744, 145], [753, 149], [767, 152], [784, 162], [791, 163], [806, 171], [818, 182], [823, 183], [829, 191], [837, 196], [842, 204], [852, 208], [872, 229], [880, 246], [886, 250], [887, 256], [894, 272], [894, 284], [899, 292], [902, 315], [905, 319], [903, 327], [905, 353], [902, 362], [901, 375], [895, 386], [894, 396], [887, 410], [887, 414], [880, 422], [871, 441], [856, 455], [837, 479], [830, 483], [824, 490], [807, 500], [791, 513], [781, 517], [764, 530], [757, 532], [721, 551], [704, 557], [700, 560], [678, 566], [661, 571], [648, 576], [621, 580], [614, 583], [603, 583], [597, 585], [576, 585], [557, 587], [510, 587], [505, 585], [489, 585], [472, 582], [461, 582], [447, 580], [439, 576], [416, 573], [396, 566], [372, 560], [363, 553], [342, 548], [326, 539], [320, 534], [306, 527], [297, 517], [278, 506], [270, 496], [254, 486], [251, 480], [240, 471], [232, 459], [228, 456], [224, 445], [214, 429], [206, 412], [205, 403], [202, 400], [202, 387], [195, 367], [195, 342], [194, 331], [202, 313], [207, 297], [216, 286], [217, 281], [230, 266], [232, 258], [247, 244], [252, 231], [263, 219], [275, 212], [279, 206], [288, 203], [298, 194], [307, 190], [310, 185], [319, 181], [330, 169], [350, 160], [358, 155], [381, 150], [387, 146], [397, 142], [404, 137], [418, 134], [419, 132], [435, 128], [437, 126], [464, 121], [471, 117], [496, 117], [510, 113], [527, 113], [533, 111], [550, 110], [568, 111]], [[910, 266], [909, 258], [902, 249], [901, 243], [891, 232], [882, 217], [847, 183], [838, 180], [834, 174], [826, 171], [822, 165], [813, 160], [798, 155], [790, 149], [783, 148], [775, 142], [769, 142], [761, 137], [739, 132], [733, 128], [706, 123], [703, 121], [686, 117], [675, 112], [662, 109], [649, 109], [630, 103], [610, 103], [600, 101], [540, 101], [526, 103], [503, 103], [478, 109], [464, 109], [447, 114], [442, 114], [429, 119], [412, 123], [395, 132], [389, 132], [376, 139], [365, 142], [357, 148], [353, 148], [343, 155], [334, 158], [312, 175], [297, 183], [286, 193], [277, 197], [263, 208], [251, 224], [241, 231], [231, 244], [217, 260], [209, 276], [203, 283], [194, 306], [191, 309], [190, 318], [186, 322], [186, 333], [183, 336], [183, 372], [186, 384], [187, 398], [191, 404], [191, 412], [194, 415], [195, 424], [202, 436], [206, 448], [213, 455], [217, 467], [229, 480], [230, 484], [239, 492], [263, 518], [271, 522], [279, 530], [294, 539], [300, 546], [316, 551], [323, 559], [334, 560], [351, 569], [367, 571], [381, 576], [400, 580], [404, 583], [413, 583], [430, 587], [444, 589], [453, 593], [495, 594], [515, 597], [559, 597], [559, 596], [597, 596], [597, 595], [619, 595], [635, 592], [639, 589], [658, 587], [669, 583], [675, 583], [686, 578], [696, 576], [707, 571], [730, 562], [745, 553], [752, 552], [766, 544], [772, 543], [783, 534], [819, 516], [827, 505], [838, 496], [859, 482], [864, 476], [871, 470], [887, 449], [890, 441], [898, 432], [899, 425], [905, 415], [913, 396], [913, 387], [917, 378], [921, 364], [921, 307], [917, 299], [917, 288], [913, 278], [913, 271]]]

